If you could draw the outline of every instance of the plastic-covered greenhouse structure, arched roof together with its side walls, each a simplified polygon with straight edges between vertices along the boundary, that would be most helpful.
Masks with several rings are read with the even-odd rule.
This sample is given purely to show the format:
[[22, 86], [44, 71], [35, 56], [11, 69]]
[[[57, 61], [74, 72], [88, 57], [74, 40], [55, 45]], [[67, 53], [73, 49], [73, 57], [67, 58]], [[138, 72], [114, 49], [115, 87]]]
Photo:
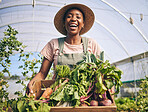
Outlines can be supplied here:
[[[123, 72], [124, 86], [116, 97], [137, 97], [139, 81], [148, 77], [148, 0], [0, 0], [0, 40], [10, 26], [26, 46], [24, 52], [33, 53], [31, 59], [40, 59], [38, 54], [51, 39], [64, 37], [56, 30], [54, 17], [71, 3], [84, 4], [94, 12], [94, 24], [82, 37], [95, 39], [104, 60]], [[10, 56], [9, 70], [11, 75], [23, 77], [19, 55]], [[38, 72], [41, 62], [36, 66]]]

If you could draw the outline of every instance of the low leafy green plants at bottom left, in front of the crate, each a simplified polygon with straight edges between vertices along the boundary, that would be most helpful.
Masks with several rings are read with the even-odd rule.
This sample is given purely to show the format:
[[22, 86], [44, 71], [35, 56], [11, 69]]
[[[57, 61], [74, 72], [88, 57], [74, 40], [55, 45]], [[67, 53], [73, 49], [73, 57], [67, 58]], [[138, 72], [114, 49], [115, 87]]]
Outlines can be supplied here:
[[34, 100], [33, 97], [22, 96], [17, 100], [9, 100], [9, 105], [13, 112], [49, 112], [48, 103], [43, 103], [40, 100]]

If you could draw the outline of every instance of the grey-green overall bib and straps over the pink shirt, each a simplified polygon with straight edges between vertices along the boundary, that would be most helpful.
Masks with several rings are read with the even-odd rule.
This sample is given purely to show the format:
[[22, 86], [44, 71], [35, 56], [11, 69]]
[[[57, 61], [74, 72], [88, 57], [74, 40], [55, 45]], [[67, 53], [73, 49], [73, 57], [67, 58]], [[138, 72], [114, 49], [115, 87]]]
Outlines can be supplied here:
[[59, 55], [57, 64], [58, 65], [69, 65], [70, 68], [73, 68], [74, 65], [77, 65], [77, 63], [84, 59], [86, 52], [87, 52], [87, 46], [88, 46], [88, 38], [82, 37], [82, 43], [83, 43], [83, 53], [72, 53], [72, 54], [64, 54], [64, 38], [58, 39], [59, 44]]

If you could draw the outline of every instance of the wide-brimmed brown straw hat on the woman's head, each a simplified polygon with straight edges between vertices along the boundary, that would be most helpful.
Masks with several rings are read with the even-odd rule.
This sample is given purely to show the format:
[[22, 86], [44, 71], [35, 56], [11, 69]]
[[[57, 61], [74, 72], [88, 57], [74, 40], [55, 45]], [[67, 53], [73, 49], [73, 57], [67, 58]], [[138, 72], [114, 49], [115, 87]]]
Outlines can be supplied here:
[[68, 5], [64, 6], [63, 8], [61, 8], [57, 12], [57, 14], [55, 15], [55, 18], [54, 18], [54, 25], [55, 25], [56, 29], [61, 34], [67, 35], [67, 31], [64, 27], [64, 16], [65, 16], [65, 13], [67, 12], [67, 10], [69, 10], [71, 8], [78, 8], [85, 15], [84, 28], [81, 29], [80, 35], [88, 32], [94, 23], [95, 16], [94, 16], [93, 11], [88, 6], [83, 5], [83, 4], [68, 4]]

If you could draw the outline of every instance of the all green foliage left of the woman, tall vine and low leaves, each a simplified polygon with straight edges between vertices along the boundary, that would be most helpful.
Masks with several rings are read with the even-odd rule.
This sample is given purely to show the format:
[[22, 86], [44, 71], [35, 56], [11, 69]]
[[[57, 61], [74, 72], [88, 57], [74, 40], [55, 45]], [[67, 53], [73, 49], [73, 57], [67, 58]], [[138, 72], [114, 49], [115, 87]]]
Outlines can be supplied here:
[[[6, 30], [6, 32], [4, 32], [4, 34], [5, 37], [0, 41], [0, 66], [1, 68], [3, 68], [0, 71], [0, 111], [3, 112], [12, 110], [14, 112], [49, 112], [50, 107], [47, 103], [45, 104], [41, 101], [34, 100], [33, 97], [23, 95], [23, 91], [26, 90], [26, 84], [24, 83], [24, 80], [21, 79], [19, 79], [16, 83], [21, 83], [21, 85], [24, 86], [23, 91], [15, 92], [15, 94], [19, 96], [17, 99], [9, 99], [9, 93], [5, 89], [9, 85], [7, 84], [8, 82], [4, 80], [4, 76], [6, 73], [9, 77], [13, 76], [9, 72], [9, 67], [11, 65], [11, 60], [9, 59], [9, 57], [13, 53], [20, 53], [19, 61], [22, 61], [24, 63], [23, 65], [19, 66], [19, 69], [22, 69], [22, 75], [24, 76], [25, 81], [31, 80], [37, 73], [37, 64], [41, 63], [42, 58], [40, 55], [38, 55], [39, 59], [29, 59], [32, 53], [24, 53], [24, 48], [26, 46], [23, 46], [22, 43], [17, 40], [16, 34], [18, 34], [18, 32], [11, 26], [8, 26], [8, 29]], [[31, 77], [28, 76], [29, 72], [32, 73]]]

